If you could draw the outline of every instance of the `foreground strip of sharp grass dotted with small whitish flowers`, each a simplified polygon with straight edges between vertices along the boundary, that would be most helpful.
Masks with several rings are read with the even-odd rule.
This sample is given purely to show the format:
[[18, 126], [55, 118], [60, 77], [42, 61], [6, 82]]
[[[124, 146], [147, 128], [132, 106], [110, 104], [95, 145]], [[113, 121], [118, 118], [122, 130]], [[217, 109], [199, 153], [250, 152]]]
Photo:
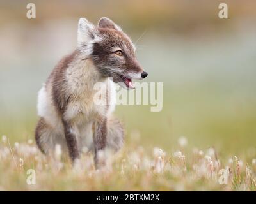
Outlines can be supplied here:
[[[138, 133], [132, 133], [138, 138]], [[0, 189], [3, 191], [255, 191], [255, 159], [237, 156], [224, 159], [214, 148], [190, 149], [182, 137], [179, 151], [145, 150], [129, 144], [109, 157], [106, 168], [95, 170], [93, 156], [84, 152], [72, 168], [57, 146], [52, 156], [44, 156], [33, 140], [10, 145], [6, 136], [0, 146]], [[27, 174], [35, 170], [36, 184]], [[220, 184], [219, 171], [228, 172], [227, 184]]]

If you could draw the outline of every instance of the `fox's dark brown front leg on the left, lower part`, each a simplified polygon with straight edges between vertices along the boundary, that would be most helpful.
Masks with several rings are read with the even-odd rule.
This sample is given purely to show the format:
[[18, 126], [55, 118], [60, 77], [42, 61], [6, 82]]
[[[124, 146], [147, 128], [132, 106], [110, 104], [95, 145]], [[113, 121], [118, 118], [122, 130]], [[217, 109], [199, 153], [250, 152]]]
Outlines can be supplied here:
[[63, 126], [64, 126], [64, 132], [65, 132], [65, 138], [68, 146], [68, 152], [69, 156], [72, 159], [72, 162], [74, 162], [76, 159], [79, 159], [79, 148], [78, 148], [78, 131], [76, 130], [76, 127], [72, 125], [70, 122], [63, 120]]

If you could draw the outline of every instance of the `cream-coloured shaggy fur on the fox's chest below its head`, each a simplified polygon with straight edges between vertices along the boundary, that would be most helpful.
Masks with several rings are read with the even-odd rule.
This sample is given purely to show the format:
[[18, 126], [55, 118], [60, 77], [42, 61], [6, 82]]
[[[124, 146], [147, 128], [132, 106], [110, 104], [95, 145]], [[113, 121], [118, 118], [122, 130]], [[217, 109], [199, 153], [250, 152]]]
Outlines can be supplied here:
[[[76, 65], [76, 64], [75, 64]], [[113, 82], [102, 78], [90, 60], [67, 70], [68, 101], [65, 118], [78, 123], [90, 122], [108, 114], [113, 101]], [[111, 94], [110, 94], [111, 93]]]

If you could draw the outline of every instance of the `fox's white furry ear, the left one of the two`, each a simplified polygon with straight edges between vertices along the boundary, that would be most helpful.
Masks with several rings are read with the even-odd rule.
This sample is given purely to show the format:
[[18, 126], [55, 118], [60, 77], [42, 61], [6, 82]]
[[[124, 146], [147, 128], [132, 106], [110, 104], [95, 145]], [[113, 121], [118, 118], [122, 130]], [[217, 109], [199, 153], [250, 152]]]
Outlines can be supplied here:
[[77, 29], [77, 43], [88, 43], [95, 38], [96, 29], [86, 18], [80, 18]]

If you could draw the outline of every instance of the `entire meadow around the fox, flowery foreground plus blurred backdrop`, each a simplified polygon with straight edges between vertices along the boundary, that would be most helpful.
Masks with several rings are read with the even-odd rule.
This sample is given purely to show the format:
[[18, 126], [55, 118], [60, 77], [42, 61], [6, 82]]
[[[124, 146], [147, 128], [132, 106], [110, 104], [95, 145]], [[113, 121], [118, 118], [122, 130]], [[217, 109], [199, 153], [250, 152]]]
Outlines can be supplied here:
[[[255, 3], [230, 1], [229, 18], [220, 20], [218, 4], [205, 3], [202, 10], [202, 2], [38, 1], [33, 21], [25, 18], [23, 3], [4, 3], [0, 190], [255, 191]], [[34, 130], [37, 92], [76, 47], [77, 19], [96, 23], [103, 16], [136, 42], [138, 61], [148, 72], [143, 81], [163, 82], [163, 110], [117, 106], [124, 148], [106, 169], [95, 170], [86, 150], [74, 167], [59, 146], [42, 155]], [[27, 182], [28, 170], [35, 170], [35, 185]], [[220, 179], [223, 173], [227, 180]]]

